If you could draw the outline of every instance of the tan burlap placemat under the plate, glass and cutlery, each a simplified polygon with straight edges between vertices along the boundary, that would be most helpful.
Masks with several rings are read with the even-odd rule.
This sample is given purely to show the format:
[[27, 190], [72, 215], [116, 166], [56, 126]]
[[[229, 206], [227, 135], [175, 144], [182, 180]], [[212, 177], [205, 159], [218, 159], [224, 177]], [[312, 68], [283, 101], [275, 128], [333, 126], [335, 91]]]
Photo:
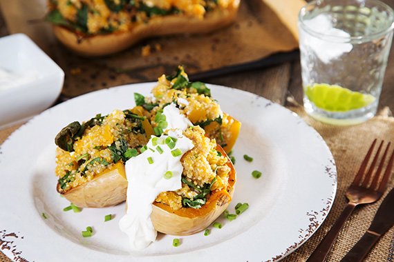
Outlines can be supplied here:
[[[389, 110], [382, 110], [377, 117], [370, 119], [370, 121], [366, 123], [349, 127], [338, 127], [326, 125], [310, 119], [306, 116], [303, 108], [294, 103], [290, 103], [288, 108], [297, 112], [297, 114], [321, 134], [330, 147], [337, 164], [338, 172], [337, 196], [326, 221], [311, 239], [283, 260], [284, 262], [301, 262], [308, 259], [308, 256], [315, 250], [318, 243], [323, 239], [323, 236], [328, 232], [346, 205], [344, 192], [353, 181], [355, 172], [362, 162], [362, 159], [364, 159], [364, 154], [368, 150], [373, 139], [378, 138], [394, 142], [394, 118], [389, 117], [391, 114]], [[1, 130], [0, 144], [16, 129], [17, 127], [12, 127]], [[392, 177], [388, 189], [393, 188], [393, 185], [394, 179]], [[363, 205], [355, 210], [354, 214], [350, 217], [349, 221], [344, 225], [344, 229], [339, 234], [339, 238], [332, 248], [332, 252], [328, 256], [327, 261], [340, 261], [346, 252], [350, 250], [369, 227], [377, 208], [380, 203], [382, 203], [382, 199], [377, 201], [377, 203]], [[391, 228], [391, 230], [380, 239], [375, 248], [373, 248], [366, 261], [393, 261], [393, 240], [394, 228]], [[0, 252], [0, 261], [8, 262], [10, 259]]]

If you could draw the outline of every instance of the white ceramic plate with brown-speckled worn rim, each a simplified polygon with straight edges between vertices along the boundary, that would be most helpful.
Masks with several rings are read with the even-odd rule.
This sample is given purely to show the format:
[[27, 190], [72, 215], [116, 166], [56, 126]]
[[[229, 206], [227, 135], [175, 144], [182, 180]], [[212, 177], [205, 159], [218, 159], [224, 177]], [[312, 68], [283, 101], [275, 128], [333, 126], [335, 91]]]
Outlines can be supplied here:
[[[248, 92], [209, 85], [223, 111], [242, 122], [234, 147], [234, 205], [250, 208], [234, 221], [180, 237], [159, 235], [131, 254], [118, 221], [124, 204], [64, 212], [57, 194], [54, 137], [68, 123], [97, 113], [131, 108], [133, 92], [149, 94], [154, 83], [92, 92], [46, 110], [14, 132], [0, 148], [0, 250], [17, 261], [279, 261], [306, 241], [326, 218], [335, 198], [334, 160], [319, 134], [297, 114]], [[243, 154], [254, 158], [252, 163]], [[263, 175], [254, 179], [253, 170]], [[41, 217], [42, 212], [48, 219]], [[104, 223], [106, 214], [115, 219]], [[84, 239], [91, 225], [95, 234]], [[9, 249], [8, 249], [9, 248]]]

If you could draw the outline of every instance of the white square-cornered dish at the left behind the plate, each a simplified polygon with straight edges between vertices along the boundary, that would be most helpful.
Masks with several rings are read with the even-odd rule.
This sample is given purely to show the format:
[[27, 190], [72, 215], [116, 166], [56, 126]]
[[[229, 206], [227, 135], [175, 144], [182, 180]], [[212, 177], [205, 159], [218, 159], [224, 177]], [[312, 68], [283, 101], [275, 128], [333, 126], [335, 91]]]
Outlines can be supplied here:
[[26, 34], [0, 38], [0, 70], [19, 81], [6, 88], [0, 80], [0, 129], [46, 110], [62, 91], [62, 68]]

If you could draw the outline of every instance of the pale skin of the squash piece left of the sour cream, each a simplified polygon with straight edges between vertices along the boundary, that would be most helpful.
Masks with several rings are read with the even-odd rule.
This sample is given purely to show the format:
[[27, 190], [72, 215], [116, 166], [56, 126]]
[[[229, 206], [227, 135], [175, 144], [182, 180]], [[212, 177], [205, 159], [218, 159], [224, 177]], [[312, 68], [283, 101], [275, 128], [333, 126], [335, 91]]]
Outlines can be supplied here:
[[127, 185], [124, 164], [116, 163], [91, 181], [66, 192], [57, 183], [57, 192], [79, 208], [104, 208], [126, 201]]

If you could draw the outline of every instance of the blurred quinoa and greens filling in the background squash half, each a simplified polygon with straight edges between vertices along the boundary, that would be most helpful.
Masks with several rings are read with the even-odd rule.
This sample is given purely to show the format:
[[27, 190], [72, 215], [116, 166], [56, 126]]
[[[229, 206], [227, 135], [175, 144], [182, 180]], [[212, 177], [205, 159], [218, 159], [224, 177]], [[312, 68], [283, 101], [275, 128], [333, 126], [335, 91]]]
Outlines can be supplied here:
[[152, 17], [182, 15], [203, 19], [228, 0], [50, 0], [46, 20], [80, 34], [122, 32]]

